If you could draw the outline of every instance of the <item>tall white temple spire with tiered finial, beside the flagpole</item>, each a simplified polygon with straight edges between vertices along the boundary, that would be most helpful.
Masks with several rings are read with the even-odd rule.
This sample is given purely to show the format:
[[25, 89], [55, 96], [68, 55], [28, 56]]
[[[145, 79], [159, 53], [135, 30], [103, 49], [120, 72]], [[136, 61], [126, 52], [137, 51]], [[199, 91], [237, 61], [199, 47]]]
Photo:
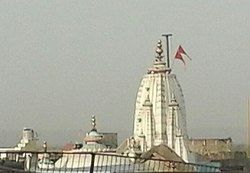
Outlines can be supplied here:
[[153, 66], [143, 76], [137, 92], [133, 135], [118, 151], [122, 148], [131, 149], [131, 141], [134, 143], [133, 151], [141, 153], [164, 145], [166, 150], [174, 151], [183, 161], [193, 162], [194, 157], [188, 149], [183, 93], [169, 66], [168, 37], [167, 65], [161, 40], [158, 41], [155, 52]]

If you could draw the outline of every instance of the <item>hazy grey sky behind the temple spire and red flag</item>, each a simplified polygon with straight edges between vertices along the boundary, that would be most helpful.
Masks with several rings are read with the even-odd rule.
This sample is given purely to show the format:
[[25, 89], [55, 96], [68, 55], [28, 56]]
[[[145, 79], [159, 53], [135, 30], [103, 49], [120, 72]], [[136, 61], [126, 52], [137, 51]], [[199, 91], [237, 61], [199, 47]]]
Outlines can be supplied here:
[[[0, 1], [0, 146], [23, 127], [48, 144], [97, 127], [132, 133], [135, 96], [162, 33], [192, 57], [173, 72], [191, 137], [246, 138], [250, 1]], [[164, 39], [164, 38], [162, 38]]]

